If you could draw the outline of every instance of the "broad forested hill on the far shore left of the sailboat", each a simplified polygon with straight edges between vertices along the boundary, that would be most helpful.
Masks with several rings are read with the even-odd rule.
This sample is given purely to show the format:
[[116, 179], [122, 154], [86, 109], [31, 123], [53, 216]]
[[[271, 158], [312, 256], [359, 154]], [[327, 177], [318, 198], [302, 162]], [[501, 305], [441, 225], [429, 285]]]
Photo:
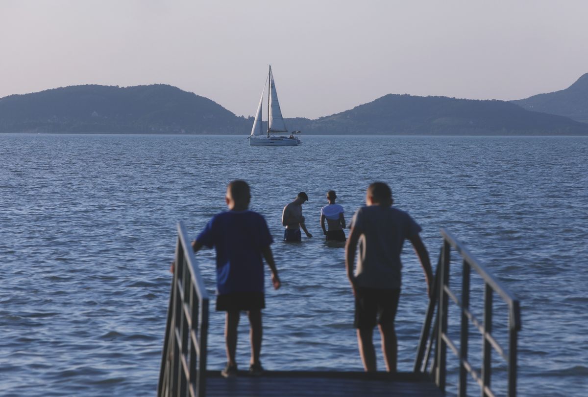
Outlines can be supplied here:
[[249, 124], [165, 84], [70, 86], [0, 99], [0, 132], [243, 134]]

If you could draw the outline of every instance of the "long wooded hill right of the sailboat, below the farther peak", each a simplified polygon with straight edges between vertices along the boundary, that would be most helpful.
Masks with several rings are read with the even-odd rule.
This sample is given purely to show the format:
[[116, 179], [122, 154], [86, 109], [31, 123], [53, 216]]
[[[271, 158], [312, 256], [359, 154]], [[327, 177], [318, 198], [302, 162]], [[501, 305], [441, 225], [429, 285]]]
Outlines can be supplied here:
[[315, 134], [588, 135], [588, 125], [505, 101], [407, 94], [388, 94], [317, 120], [292, 121], [296, 129]]

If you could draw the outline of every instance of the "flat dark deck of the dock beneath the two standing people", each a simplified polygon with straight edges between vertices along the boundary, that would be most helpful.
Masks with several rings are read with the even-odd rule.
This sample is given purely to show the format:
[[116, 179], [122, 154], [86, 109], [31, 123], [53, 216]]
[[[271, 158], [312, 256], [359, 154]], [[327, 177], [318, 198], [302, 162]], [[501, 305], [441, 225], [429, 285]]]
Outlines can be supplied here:
[[209, 397], [436, 397], [443, 396], [430, 378], [413, 372], [394, 375], [386, 372], [266, 371], [249, 376], [242, 371], [225, 379], [220, 371], [206, 371]]

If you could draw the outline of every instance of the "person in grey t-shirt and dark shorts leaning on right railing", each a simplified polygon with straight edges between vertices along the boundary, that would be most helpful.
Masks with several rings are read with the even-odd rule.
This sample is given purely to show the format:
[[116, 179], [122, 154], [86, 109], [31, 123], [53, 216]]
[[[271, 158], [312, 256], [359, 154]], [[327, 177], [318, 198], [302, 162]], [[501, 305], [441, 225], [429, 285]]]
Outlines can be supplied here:
[[[433, 272], [429, 254], [419, 232], [420, 226], [406, 212], [392, 207], [392, 192], [383, 182], [369, 185], [367, 206], [353, 216], [349, 239], [345, 247], [347, 276], [355, 296], [355, 321], [359, 354], [366, 371], [376, 371], [373, 328], [380, 328], [386, 369], [396, 372], [397, 340], [394, 319], [400, 296], [400, 253], [408, 239], [425, 270], [427, 293]], [[359, 243], [358, 266], [353, 267]]]

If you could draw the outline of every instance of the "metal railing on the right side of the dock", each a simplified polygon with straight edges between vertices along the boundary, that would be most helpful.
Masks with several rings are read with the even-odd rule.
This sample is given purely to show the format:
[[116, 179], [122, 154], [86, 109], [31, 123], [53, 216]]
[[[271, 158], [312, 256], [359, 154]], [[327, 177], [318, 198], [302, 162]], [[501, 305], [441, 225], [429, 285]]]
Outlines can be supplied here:
[[[425, 372], [429, 365], [429, 358], [435, 344], [435, 359], [431, 365], [431, 374], [434, 374], [435, 383], [442, 391], [445, 391], [447, 375], [447, 347], [459, 358], [459, 384], [457, 395], [467, 395], [467, 374], [480, 386], [482, 397], [493, 397], [495, 394], [490, 388], [492, 374], [492, 350], [495, 350], [507, 363], [507, 395], [516, 396], [517, 379], [517, 336], [521, 328], [519, 301], [507, 291], [487, 270], [473, 257], [473, 255], [446, 229], [441, 229], [443, 246], [433, 286], [432, 299], [429, 302], [425, 323], [420, 336], [419, 348], [415, 360], [415, 372]], [[450, 250], [455, 249], [463, 259], [462, 272], [462, 296], [461, 301], [449, 288], [449, 263]], [[470, 311], [470, 273], [475, 270], [484, 283], [484, 318], [477, 318]], [[506, 303], [508, 310], [508, 350], [500, 346], [492, 336], [492, 307], [493, 295], [496, 293]], [[459, 348], [447, 334], [447, 319], [449, 317], [449, 298], [459, 307], [460, 342]], [[432, 332], [431, 324], [437, 308], [437, 316]], [[468, 361], [469, 324], [473, 324], [482, 334], [482, 367], [477, 372]]]

